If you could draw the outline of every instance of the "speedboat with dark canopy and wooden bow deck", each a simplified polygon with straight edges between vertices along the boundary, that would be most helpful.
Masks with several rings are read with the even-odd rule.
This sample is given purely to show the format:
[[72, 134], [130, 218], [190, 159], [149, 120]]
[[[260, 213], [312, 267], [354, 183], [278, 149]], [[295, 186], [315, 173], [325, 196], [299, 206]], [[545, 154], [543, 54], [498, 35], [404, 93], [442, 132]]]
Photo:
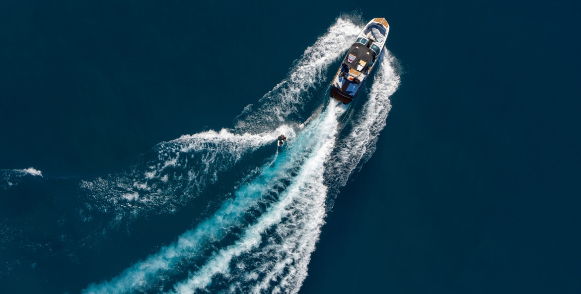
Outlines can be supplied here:
[[385, 47], [388, 32], [388, 22], [380, 18], [371, 20], [361, 30], [333, 78], [331, 97], [343, 104], [357, 97]]

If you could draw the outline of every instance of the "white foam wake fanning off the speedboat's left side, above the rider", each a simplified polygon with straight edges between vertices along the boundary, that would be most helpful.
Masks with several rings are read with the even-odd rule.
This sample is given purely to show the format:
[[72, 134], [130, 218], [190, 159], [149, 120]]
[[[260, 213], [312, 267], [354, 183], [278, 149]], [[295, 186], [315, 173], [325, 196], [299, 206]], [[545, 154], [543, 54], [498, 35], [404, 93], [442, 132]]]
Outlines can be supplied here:
[[257, 130], [276, 128], [285, 121], [303, 121], [299, 110], [309, 101], [309, 90], [317, 86], [333, 61], [343, 57], [361, 28], [351, 20], [339, 18], [303, 56], [280, 82], [256, 104], [245, 107], [235, 119], [237, 129]]

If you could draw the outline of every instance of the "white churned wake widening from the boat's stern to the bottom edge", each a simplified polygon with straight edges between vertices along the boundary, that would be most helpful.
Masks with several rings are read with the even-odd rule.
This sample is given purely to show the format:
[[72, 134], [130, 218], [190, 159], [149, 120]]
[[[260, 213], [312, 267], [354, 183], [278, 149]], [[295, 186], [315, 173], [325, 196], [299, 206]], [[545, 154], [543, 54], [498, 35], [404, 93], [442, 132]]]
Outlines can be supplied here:
[[[331, 104], [336, 105], [336, 101], [331, 101]], [[324, 162], [331, 153], [333, 144], [335, 143], [338, 115], [345, 112], [345, 110], [345, 106], [330, 105], [321, 114], [319, 119], [311, 122], [307, 129], [299, 134], [297, 141], [307, 142], [312, 147], [304, 150], [294, 150], [292, 147], [289, 147], [288, 153], [301, 154], [301, 157], [304, 158], [299, 163], [300, 165], [297, 165], [298, 171], [296, 176], [287, 175], [291, 178], [292, 184], [282, 191], [278, 197], [278, 201], [268, 206], [266, 211], [260, 215], [255, 223], [245, 228], [238, 241], [233, 245], [227, 246], [227, 248], [221, 249], [216, 255], [212, 256], [187, 281], [177, 284], [174, 293], [194, 293], [196, 289], [206, 288], [206, 286], [211, 284], [212, 278], [217, 274], [222, 274], [224, 277], [231, 276], [229, 268], [234, 258], [258, 249], [263, 242], [263, 237], [266, 237], [264, 235], [267, 230], [273, 226], [277, 226], [276, 230], [281, 231], [281, 225], [284, 226], [285, 223], [292, 223], [292, 226], [314, 229], [309, 230], [309, 235], [313, 238], [303, 239], [303, 241], [307, 242], [301, 242], [303, 244], [300, 244], [300, 246], [287, 247], [298, 252], [293, 252], [295, 253], [294, 256], [288, 256], [289, 260], [286, 264], [292, 263], [295, 266], [304, 266], [306, 268], [306, 265], [309, 263], [310, 252], [314, 250], [314, 244], [318, 239], [318, 230], [320, 230], [325, 214], [324, 199], [327, 187], [322, 183]], [[313, 201], [314, 199], [318, 199], [318, 201]], [[290, 235], [278, 234], [278, 236], [284, 236], [286, 241], [290, 241]], [[272, 247], [272, 244], [266, 246], [267, 251], [271, 250], [268, 247]], [[238, 263], [237, 266], [241, 267], [242, 264]], [[266, 267], [260, 268], [259, 270], [264, 270]], [[270, 273], [270, 275], [274, 274], [277, 273]], [[239, 278], [236, 275], [231, 277], [234, 280]], [[286, 278], [290, 278], [291, 281], [287, 281], [278, 287], [284, 287], [286, 284], [300, 286], [300, 284], [296, 283], [302, 282], [302, 279], [293, 279], [289, 275], [282, 278], [285, 280]], [[271, 280], [271, 277], [267, 277], [266, 285], [264, 285], [265, 288], [270, 286]], [[261, 287], [259, 286], [259, 288]]]

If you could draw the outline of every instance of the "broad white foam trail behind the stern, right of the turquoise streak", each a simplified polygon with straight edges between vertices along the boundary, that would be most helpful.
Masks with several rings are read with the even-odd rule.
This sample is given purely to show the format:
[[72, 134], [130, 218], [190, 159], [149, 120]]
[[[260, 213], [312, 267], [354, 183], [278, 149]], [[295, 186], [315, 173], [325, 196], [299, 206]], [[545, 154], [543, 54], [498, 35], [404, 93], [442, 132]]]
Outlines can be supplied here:
[[[333, 102], [331, 101], [331, 104], [335, 104]], [[299, 140], [309, 141], [312, 147], [301, 150], [305, 151], [302, 155], [305, 159], [300, 162], [296, 176], [288, 175], [292, 178], [292, 184], [282, 191], [277, 202], [268, 206], [256, 223], [245, 228], [238, 241], [212, 256], [187, 281], [175, 285], [174, 293], [194, 293], [196, 289], [210, 285], [217, 274], [229, 277], [231, 281], [239, 278], [246, 281], [259, 280], [262, 277], [254, 293], [260, 293], [260, 289], [269, 288], [271, 281], [277, 278], [285, 281], [277, 285], [277, 289], [298, 291], [306, 277], [310, 254], [314, 251], [314, 245], [323, 224], [327, 191], [327, 187], [323, 184], [324, 162], [335, 142], [338, 125], [336, 115], [344, 111], [344, 106], [327, 107], [327, 111], [321, 115], [322, 119], [313, 122], [312, 128], [299, 134], [299, 137], [302, 137]], [[289, 148], [288, 152], [294, 153], [295, 150]], [[270, 238], [263, 239], [266, 231], [273, 226], [276, 227], [277, 236], [283, 238], [283, 244], [273, 242]], [[266, 245], [263, 244], [264, 242]], [[261, 245], [263, 247], [259, 248]], [[261, 260], [263, 264], [260, 268], [249, 275], [243, 265], [245, 259], [243, 257], [238, 259], [238, 257], [256, 249], [259, 252], [254, 252], [254, 254], [265, 258]], [[278, 259], [281, 255], [286, 257], [282, 260]], [[274, 257], [274, 259], [269, 257]], [[242, 269], [238, 273], [230, 273], [229, 270], [234, 259], [238, 260], [235, 268]], [[277, 260], [277, 262], [268, 264], [271, 260]], [[290, 271], [285, 273], [285, 268], [290, 268]], [[231, 291], [244, 291], [244, 289], [236, 288], [236, 283], [231, 285]]]

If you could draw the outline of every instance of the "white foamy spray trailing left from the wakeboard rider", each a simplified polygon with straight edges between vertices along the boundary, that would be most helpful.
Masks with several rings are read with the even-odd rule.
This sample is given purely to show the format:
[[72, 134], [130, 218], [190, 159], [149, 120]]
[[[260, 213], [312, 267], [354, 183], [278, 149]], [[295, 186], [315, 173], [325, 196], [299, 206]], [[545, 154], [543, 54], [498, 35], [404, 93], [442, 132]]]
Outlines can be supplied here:
[[138, 162], [123, 173], [81, 181], [87, 191], [87, 208], [114, 210], [112, 225], [142, 212], [175, 212], [179, 206], [216, 183], [221, 172], [232, 168], [243, 155], [271, 144], [285, 133], [292, 141], [295, 131], [287, 125], [258, 134], [236, 134], [222, 129], [158, 144], [152, 159]]

